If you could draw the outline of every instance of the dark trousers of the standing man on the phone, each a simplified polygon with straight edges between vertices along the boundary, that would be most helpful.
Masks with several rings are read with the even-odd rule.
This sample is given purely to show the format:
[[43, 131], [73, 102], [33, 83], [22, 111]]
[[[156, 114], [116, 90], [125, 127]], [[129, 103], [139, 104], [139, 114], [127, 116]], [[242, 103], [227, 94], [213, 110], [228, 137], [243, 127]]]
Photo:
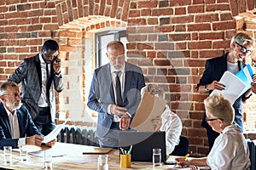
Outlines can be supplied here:
[[49, 134], [55, 128], [55, 122], [51, 122], [50, 108], [40, 107], [39, 115], [33, 120], [38, 130], [44, 134]]

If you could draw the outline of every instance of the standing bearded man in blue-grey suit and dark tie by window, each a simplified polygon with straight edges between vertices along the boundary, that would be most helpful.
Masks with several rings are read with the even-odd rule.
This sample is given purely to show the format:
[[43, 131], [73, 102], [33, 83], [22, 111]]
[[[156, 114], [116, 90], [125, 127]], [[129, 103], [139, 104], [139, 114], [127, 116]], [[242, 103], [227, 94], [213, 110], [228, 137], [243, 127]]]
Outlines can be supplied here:
[[107, 57], [109, 63], [94, 71], [87, 105], [98, 112], [96, 136], [100, 146], [117, 148], [118, 133], [130, 127], [145, 80], [140, 67], [125, 62], [122, 42], [109, 42]]

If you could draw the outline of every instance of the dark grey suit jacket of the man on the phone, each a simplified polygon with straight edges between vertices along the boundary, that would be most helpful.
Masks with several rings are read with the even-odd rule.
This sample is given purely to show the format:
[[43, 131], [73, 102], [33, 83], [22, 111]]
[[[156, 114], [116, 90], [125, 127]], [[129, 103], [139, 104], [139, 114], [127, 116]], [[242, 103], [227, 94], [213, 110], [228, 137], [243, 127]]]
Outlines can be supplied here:
[[[50, 72], [50, 80], [47, 93], [49, 93], [51, 121], [55, 122], [55, 90], [59, 93], [63, 90], [63, 80], [61, 75], [55, 75], [53, 68]], [[22, 103], [26, 105], [32, 119], [35, 119], [39, 114], [38, 100], [42, 93], [42, 73], [39, 54], [31, 58], [23, 59], [19, 67], [9, 77], [9, 81], [22, 83]]]

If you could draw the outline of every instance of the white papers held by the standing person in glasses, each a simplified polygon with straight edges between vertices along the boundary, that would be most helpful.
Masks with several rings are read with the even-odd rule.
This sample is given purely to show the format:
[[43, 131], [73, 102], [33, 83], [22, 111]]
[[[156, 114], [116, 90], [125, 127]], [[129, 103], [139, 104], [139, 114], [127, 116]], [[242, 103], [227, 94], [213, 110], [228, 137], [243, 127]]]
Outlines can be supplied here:
[[[241, 82], [241, 80], [232, 74], [230, 71], [225, 71], [224, 75], [219, 80], [219, 83], [225, 85], [224, 90], [212, 91], [212, 94], [220, 93], [223, 94], [225, 99], [230, 101], [230, 104], [233, 105], [236, 99], [241, 95], [241, 92], [246, 88], [246, 84]], [[210, 95], [212, 95], [210, 94]]]

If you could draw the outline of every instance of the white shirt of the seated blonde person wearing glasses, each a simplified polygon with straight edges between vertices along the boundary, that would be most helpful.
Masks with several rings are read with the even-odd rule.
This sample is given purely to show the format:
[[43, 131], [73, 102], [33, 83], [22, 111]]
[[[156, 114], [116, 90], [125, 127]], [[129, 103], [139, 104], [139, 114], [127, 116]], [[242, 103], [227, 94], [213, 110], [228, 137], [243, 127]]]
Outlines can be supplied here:
[[212, 170], [248, 170], [250, 168], [247, 141], [236, 125], [225, 127], [215, 139], [207, 156], [207, 164]]

